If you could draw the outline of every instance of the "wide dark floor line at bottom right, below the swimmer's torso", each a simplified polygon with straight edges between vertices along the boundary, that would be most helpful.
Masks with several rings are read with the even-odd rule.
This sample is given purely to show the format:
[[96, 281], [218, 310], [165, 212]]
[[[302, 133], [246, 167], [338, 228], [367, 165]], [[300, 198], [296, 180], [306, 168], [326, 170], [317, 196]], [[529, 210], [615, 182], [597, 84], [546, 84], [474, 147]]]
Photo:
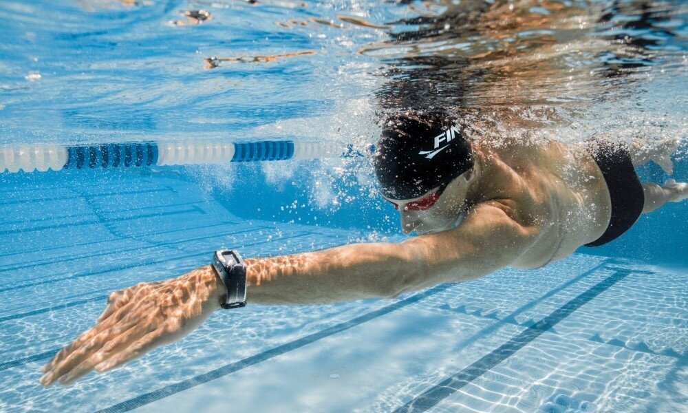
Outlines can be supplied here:
[[468, 366], [457, 374], [440, 381], [440, 383], [429, 388], [415, 399], [409, 401], [409, 403], [406, 403], [397, 410], [394, 410], [394, 413], [425, 412], [426, 410], [429, 410], [431, 407], [440, 403], [440, 401], [444, 400], [448, 396], [451, 396], [451, 394], [457, 390], [460, 390], [465, 385], [471, 383], [471, 381], [477, 379], [485, 372], [488, 372], [488, 370], [491, 370], [493, 367], [497, 366], [497, 364], [502, 363], [502, 361], [511, 357], [515, 352], [526, 346], [531, 341], [537, 339], [537, 337], [539, 337], [542, 333], [550, 330], [550, 328], [559, 323], [559, 321], [571, 315], [571, 313], [573, 313], [575, 310], [581, 308], [583, 304], [588, 303], [588, 301], [594, 299], [605, 290], [624, 279], [630, 273], [631, 271], [629, 270], [616, 271], [616, 273], [603, 279], [601, 282], [592, 286], [584, 293], [581, 293], [581, 295], [578, 297], [571, 299], [568, 301], [568, 303], [559, 307], [553, 313], [544, 319], [541, 319], [532, 327], [527, 328], [521, 334], [502, 344], [502, 346], [499, 346], [499, 348], [496, 348], [486, 356], [475, 361], [475, 363], [471, 364], [471, 366]]

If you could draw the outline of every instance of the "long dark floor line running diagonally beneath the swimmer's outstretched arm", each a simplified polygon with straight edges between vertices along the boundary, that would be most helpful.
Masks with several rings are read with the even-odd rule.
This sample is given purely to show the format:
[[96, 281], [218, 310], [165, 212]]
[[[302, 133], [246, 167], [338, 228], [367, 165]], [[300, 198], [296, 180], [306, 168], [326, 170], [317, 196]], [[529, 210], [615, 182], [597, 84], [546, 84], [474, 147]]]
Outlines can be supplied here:
[[141, 394], [140, 396], [136, 396], [133, 399], [122, 401], [122, 403], [117, 403], [116, 405], [112, 405], [103, 410], [98, 410], [98, 412], [96, 413], [129, 412], [130, 410], [134, 410], [138, 407], [141, 407], [142, 405], [153, 403], [154, 401], [164, 399], [165, 397], [171, 396], [175, 393], [182, 392], [184, 390], [193, 388], [203, 383], [208, 383], [208, 381], [219, 379], [220, 377], [226, 376], [227, 374], [237, 372], [238, 370], [242, 370], [244, 368], [253, 366], [254, 364], [260, 363], [261, 361], [272, 359], [273, 357], [277, 357], [286, 352], [296, 350], [297, 348], [301, 348], [307, 344], [313, 343], [314, 341], [318, 341], [320, 339], [324, 339], [325, 337], [335, 335], [338, 332], [342, 332], [352, 327], [356, 327], [359, 324], [363, 324], [366, 321], [376, 319], [380, 316], [391, 313], [394, 310], [398, 310], [399, 308], [408, 306], [409, 304], [417, 303], [418, 301], [427, 298], [433, 294], [441, 293], [442, 291], [447, 290], [447, 288], [454, 285], [455, 284], [440, 284], [439, 286], [435, 286], [433, 288], [430, 288], [429, 290], [423, 291], [422, 293], [412, 295], [411, 297], [397, 301], [396, 303], [390, 304], [389, 306], [385, 306], [378, 310], [371, 311], [370, 313], [366, 313], [364, 315], [361, 315], [360, 317], [356, 317], [349, 321], [344, 321], [343, 323], [336, 324], [335, 326], [332, 326], [330, 328], [325, 328], [325, 330], [314, 332], [311, 335], [307, 335], [305, 337], [301, 337], [300, 339], [290, 341], [289, 343], [285, 343], [281, 346], [271, 348], [270, 350], [266, 350], [259, 354], [255, 354], [251, 357], [247, 357], [246, 359], [236, 361], [235, 363], [227, 364], [226, 366], [222, 366], [221, 368], [211, 370], [207, 373], [199, 374], [198, 376], [192, 377], [191, 379], [186, 379], [178, 383], [167, 385], [164, 388], [153, 390], [152, 392], [146, 394]]

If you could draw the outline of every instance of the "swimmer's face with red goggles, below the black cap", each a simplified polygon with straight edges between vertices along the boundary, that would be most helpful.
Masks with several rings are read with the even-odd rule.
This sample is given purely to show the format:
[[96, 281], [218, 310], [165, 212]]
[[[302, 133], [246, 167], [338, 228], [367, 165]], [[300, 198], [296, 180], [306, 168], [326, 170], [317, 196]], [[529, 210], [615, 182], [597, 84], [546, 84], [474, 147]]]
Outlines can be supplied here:
[[453, 229], [460, 218], [471, 171], [458, 176], [449, 184], [437, 187], [411, 200], [385, 200], [394, 204], [401, 218], [401, 230], [405, 234], [418, 235]]

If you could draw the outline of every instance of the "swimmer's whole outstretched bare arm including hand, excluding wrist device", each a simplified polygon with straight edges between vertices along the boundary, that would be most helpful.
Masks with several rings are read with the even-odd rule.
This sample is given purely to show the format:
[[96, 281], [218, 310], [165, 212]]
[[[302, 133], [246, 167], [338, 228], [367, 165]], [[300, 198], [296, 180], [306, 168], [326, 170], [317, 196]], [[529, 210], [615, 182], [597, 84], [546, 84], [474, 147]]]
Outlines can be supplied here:
[[[503, 204], [480, 204], [451, 231], [400, 244], [352, 244], [324, 251], [246, 260], [251, 304], [319, 304], [395, 297], [444, 282], [482, 277], [512, 264], [538, 229], [510, 218]], [[181, 339], [226, 293], [211, 266], [112, 293], [98, 324], [43, 367], [43, 385], [70, 384]]]

